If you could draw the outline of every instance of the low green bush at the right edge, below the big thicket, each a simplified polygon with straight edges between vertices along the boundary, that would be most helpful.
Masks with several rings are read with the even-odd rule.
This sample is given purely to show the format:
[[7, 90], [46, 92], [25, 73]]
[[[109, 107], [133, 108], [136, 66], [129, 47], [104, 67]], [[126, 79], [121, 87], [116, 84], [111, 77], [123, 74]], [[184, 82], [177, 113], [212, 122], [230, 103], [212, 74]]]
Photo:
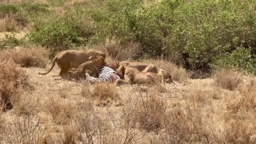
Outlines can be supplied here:
[[237, 47], [231, 54], [222, 54], [215, 58], [212, 68], [235, 69], [248, 74], [255, 74], [256, 59], [251, 54], [251, 49]]

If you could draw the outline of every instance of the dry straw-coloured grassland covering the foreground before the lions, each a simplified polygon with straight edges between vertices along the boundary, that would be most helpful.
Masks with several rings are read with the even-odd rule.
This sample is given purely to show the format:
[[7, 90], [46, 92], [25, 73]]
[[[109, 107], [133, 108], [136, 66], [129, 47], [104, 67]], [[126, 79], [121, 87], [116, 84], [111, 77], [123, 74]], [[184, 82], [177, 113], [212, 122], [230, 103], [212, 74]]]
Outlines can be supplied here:
[[[5, 65], [0, 65], [4, 76]], [[37, 74], [42, 69], [24, 69], [34, 90], [20, 94], [12, 110], [0, 113], [1, 143], [256, 142], [255, 77], [243, 75], [233, 91], [216, 85], [216, 78], [205, 78], [187, 79], [185, 86], [166, 84], [161, 92], [157, 86], [54, 81], [57, 66], [44, 76]], [[5, 84], [14, 81], [14, 74], [7, 74], [14, 78]], [[111, 105], [119, 99], [122, 105]]]

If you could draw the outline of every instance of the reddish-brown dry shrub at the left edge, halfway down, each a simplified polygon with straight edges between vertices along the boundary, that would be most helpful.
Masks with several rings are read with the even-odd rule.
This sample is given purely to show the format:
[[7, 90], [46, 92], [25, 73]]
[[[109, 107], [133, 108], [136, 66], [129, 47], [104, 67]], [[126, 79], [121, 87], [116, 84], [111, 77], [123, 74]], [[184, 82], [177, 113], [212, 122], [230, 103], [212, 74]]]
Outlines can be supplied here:
[[0, 62], [0, 105], [13, 108], [12, 101], [29, 88], [28, 75], [12, 61]]

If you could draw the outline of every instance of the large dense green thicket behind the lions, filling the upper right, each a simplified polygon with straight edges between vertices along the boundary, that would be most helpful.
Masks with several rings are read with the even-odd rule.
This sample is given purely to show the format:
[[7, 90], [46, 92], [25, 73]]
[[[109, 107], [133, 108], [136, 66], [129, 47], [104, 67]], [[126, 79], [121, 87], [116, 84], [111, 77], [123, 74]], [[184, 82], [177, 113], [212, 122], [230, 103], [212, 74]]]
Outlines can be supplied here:
[[220, 54], [237, 46], [255, 53], [256, 14], [252, 1], [94, 2], [88, 11], [97, 32], [91, 43], [117, 37], [134, 41], [147, 57], [167, 58], [190, 69], [209, 70]]

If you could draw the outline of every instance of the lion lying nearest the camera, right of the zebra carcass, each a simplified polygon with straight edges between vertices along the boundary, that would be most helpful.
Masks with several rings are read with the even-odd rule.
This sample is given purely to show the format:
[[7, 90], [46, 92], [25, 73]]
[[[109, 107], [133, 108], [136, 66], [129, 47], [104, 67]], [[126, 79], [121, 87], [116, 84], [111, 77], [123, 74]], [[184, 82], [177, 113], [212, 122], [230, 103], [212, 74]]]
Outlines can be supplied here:
[[115, 84], [156, 84], [164, 83], [163, 79], [151, 72], [139, 71], [137, 68], [120, 66], [116, 69], [116, 75], [121, 79], [117, 79]]

